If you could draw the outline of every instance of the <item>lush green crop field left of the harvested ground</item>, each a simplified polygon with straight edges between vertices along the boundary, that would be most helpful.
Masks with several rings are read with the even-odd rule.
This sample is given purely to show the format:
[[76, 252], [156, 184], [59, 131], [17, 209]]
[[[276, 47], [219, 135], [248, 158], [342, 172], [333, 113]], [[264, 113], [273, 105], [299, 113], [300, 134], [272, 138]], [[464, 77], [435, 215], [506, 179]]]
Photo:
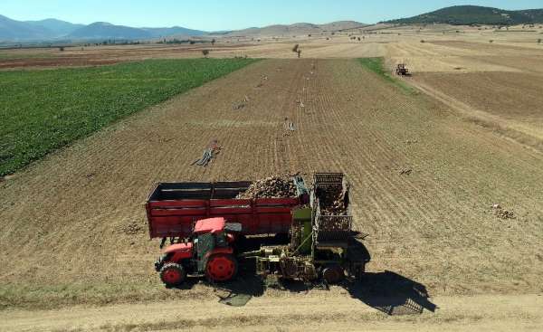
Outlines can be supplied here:
[[0, 71], [0, 176], [252, 62], [148, 60], [79, 69]]

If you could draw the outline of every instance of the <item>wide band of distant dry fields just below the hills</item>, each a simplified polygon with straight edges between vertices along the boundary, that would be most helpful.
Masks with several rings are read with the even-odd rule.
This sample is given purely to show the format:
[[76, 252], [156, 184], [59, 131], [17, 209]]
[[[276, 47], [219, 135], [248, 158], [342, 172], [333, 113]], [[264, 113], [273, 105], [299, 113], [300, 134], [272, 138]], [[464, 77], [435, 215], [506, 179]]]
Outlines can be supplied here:
[[[217, 43], [141, 44], [114, 46], [75, 46], [64, 52], [58, 48], [0, 50], [0, 70], [13, 68], [49, 68], [90, 66], [143, 59], [211, 57], [292, 59], [292, 46], [300, 43], [303, 58], [346, 59], [386, 56], [392, 62], [408, 62], [415, 71], [522, 71], [530, 66], [543, 71], [538, 43], [543, 28], [525, 32], [520, 26], [510, 33], [496, 32], [490, 26], [473, 28], [446, 24], [394, 27], [383, 24], [341, 33], [307, 35], [214, 36]], [[352, 40], [351, 37], [361, 40]], [[210, 37], [211, 38], [211, 37]], [[490, 43], [492, 41], [492, 43]], [[424, 43], [421, 43], [424, 42]], [[522, 61], [518, 62], [518, 57]], [[497, 58], [494, 63], [489, 58]], [[505, 62], [505, 63], [504, 63]], [[518, 67], [521, 67], [520, 69]], [[461, 68], [460, 70], [457, 68]]]

